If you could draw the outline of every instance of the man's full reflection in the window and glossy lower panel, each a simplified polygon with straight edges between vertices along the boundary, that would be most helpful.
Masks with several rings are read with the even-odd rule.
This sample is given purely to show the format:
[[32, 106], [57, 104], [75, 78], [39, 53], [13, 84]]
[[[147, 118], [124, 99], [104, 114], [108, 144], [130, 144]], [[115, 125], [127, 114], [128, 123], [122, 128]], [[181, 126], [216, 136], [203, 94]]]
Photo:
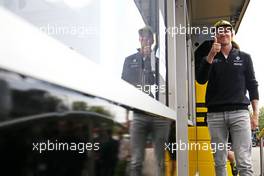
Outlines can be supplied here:
[[[151, 46], [154, 42], [153, 32], [149, 26], [138, 31], [141, 48], [128, 56], [123, 65], [122, 79], [139, 88], [149, 96], [154, 97], [151, 85], [157, 83], [157, 75], [151, 69]], [[156, 58], [157, 59], [157, 58]], [[167, 141], [170, 121], [154, 118], [134, 112], [130, 128], [131, 135], [131, 176], [142, 175], [145, 145], [149, 134], [154, 143], [157, 176], [164, 175], [164, 144]]]

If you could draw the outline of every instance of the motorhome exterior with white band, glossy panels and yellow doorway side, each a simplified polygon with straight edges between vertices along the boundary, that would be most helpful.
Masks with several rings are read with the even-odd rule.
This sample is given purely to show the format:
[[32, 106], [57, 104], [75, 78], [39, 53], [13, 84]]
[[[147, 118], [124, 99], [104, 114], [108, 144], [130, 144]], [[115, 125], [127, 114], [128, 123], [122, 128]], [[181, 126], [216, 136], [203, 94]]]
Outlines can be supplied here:
[[[176, 121], [175, 144], [209, 146], [195, 51], [211, 40], [208, 29], [219, 19], [237, 31], [248, 3], [0, 0], [1, 172], [127, 173], [120, 143], [130, 140], [135, 112]], [[151, 87], [154, 98], [121, 80], [124, 59], [136, 51], [137, 31], [145, 25], [153, 29], [152, 55], [159, 58], [152, 61], [159, 78]], [[176, 166], [166, 175], [173, 167], [179, 176], [214, 175], [210, 149], [175, 153]], [[123, 160], [129, 163], [129, 154]]]

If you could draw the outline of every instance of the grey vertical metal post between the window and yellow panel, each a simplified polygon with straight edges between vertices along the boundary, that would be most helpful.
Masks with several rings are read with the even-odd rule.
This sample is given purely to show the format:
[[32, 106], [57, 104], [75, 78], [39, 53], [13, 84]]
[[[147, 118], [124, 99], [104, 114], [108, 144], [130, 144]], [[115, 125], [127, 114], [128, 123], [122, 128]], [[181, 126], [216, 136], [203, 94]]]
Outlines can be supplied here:
[[[188, 67], [187, 67], [187, 41], [186, 31], [186, 0], [176, 0], [176, 83], [177, 83], [177, 124], [176, 136], [178, 144], [177, 152], [177, 174], [189, 175], [188, 158]], [[181, 144], [186, 147], [181, 149]]]

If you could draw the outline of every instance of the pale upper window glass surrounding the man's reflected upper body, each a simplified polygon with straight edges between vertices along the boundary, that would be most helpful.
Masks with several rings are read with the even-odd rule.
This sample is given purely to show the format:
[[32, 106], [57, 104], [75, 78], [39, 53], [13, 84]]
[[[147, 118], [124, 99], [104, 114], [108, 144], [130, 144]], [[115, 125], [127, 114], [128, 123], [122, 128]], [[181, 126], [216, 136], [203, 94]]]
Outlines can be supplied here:
[[166, 55], [164, 1], [146, 0], [0, 0], [0, 5], [100, 64], [120, 78], [125, 57], [140, 47], [138, 29], [154, 34], [151, 91], [165, 103]]

